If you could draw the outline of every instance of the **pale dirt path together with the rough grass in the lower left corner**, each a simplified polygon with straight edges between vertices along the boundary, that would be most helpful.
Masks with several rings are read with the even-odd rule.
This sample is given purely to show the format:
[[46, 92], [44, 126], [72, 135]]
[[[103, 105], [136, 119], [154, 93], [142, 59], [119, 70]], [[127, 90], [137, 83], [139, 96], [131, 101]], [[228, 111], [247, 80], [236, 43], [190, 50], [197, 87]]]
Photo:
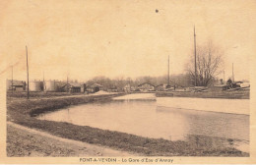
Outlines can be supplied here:
[[129, 156], [128, 152], [105, 146], [59, 138], [7, 122], [8, 156]]

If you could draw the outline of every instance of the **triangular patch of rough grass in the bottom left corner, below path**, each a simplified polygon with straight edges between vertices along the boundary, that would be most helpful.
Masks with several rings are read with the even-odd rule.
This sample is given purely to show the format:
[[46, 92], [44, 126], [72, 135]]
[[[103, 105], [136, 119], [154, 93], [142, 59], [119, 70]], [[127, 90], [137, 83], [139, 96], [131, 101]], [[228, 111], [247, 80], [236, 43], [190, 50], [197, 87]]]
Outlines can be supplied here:
[[7, 156], [74, 156], [75, 150], [61, 142], [7, 127]]

